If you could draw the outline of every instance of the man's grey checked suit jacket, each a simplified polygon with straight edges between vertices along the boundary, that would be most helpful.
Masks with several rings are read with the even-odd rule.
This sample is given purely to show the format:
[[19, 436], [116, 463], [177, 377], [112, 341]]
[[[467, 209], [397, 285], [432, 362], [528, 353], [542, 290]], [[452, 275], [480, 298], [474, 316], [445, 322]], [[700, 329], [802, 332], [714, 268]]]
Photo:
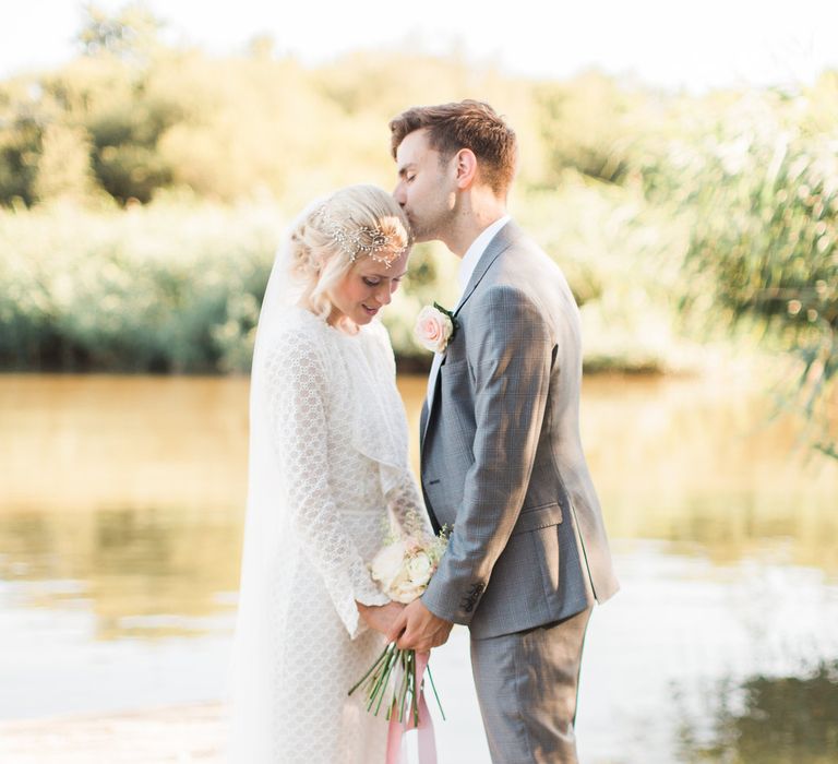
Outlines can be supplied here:
[[455, 310], [421, 482], [453, 528], [422, 595], [474, 637], [550, 623], [618, 589], [578, 427], [578, 309], [559, 266], [507, 223]]

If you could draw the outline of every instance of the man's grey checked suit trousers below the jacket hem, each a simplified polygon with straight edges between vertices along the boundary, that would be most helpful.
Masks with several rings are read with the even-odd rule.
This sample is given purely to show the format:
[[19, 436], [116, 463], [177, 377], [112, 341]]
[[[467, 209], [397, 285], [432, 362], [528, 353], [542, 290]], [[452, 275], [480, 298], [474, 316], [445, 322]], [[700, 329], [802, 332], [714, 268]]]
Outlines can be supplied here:
[[493, 764], [576, 762], [576, 696], [591, 608], [471, 640], [471, 670]]

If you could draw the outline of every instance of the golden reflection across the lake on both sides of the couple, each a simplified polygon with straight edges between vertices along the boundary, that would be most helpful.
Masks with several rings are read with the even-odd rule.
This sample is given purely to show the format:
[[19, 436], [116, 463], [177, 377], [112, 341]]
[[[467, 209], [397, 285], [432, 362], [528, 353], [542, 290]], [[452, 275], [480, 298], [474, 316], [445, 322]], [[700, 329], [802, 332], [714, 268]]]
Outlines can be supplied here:
[[[411, 432], [423, 378], [399, 382]], [[238, 585], [246, 379], [0, 378], [0, 578], [80, 582], [103, 638], [182, 630]], [[838, 465], [806, 464], [767, 403], [706, 381], [586, 382], [584, 435], [614, 538], [838, 574]], [[417, 439], [411, 444], [417, 461]], [[128, 625], [127, 625], [128, 624]], [[191, 626], [190, 626], [191, 628]]]

